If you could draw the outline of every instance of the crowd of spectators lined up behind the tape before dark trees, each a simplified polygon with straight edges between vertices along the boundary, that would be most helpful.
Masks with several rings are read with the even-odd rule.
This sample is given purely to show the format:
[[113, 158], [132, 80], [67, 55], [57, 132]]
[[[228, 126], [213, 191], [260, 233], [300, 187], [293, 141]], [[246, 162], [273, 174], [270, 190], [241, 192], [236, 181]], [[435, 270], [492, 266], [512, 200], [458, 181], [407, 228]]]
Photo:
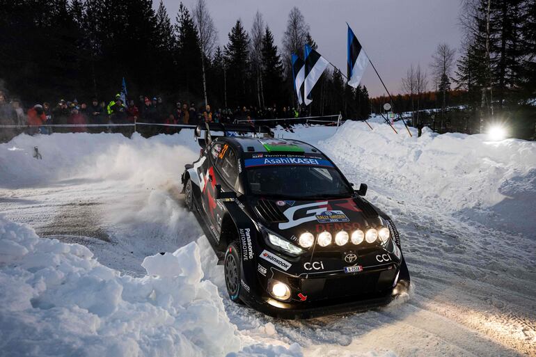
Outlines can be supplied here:
[[[263, 124], [274, 126], [278, 118], [299, 118], [306, 116], [305, 109], [285, 107], [278, 109], [275, 105], [258, 109], [254, 106], [212, 110], [210, 105], [196, 106], [191, 102], [165, 102], [162, 97], [140, 95], [136, 100], [123, 102], [117, 94], [107, 102], [93, 97], [89, 102], [59, 100], [55, 106], [48, 102], [35, 104], [24, 109], [17, 98], [8, 100], [0, 92], [0, 125], [17, 127], [0, 127], [0, 141], [26, 132], [26, 134], [52, 134], [52, 132], [122, 132], [132, 133], [132, 125], [125, 124], [149, 123], [172, 125], [198, 125], [200, 122], [253, 122], [265, 119]], [[271, 120], [274, 119], [272, 122]], [[123, 124], [122, 126], [110, 126]], [[49, 125], [65, 125], [51, 127]], [[144, 125], [145, 126], [145, 125]], [[127, 127], [129, 127], [127, 129]], [[138, 130], [145, 136], [159, 133], [172, 134], [178, 132], [177, 127], [166, 125], [146, 125]]]

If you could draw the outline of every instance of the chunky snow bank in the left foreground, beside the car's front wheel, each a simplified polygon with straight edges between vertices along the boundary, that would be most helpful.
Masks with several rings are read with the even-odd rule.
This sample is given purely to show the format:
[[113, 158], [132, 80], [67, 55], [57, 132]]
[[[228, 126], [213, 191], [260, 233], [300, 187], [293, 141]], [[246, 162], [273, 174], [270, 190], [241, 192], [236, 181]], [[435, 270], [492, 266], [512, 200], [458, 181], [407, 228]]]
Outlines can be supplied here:
[[199, 248], [145, 258], [120, 276], [78, 244], [0, 217], [0, 351], [10, 356], [224, 356], [239, 351]]

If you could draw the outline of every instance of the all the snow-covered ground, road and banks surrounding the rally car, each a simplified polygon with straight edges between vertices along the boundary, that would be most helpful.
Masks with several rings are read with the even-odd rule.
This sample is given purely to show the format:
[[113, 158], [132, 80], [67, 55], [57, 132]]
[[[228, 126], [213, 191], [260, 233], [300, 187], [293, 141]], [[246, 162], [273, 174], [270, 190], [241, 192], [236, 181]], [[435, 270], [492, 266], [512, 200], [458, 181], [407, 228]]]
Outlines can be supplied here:
[[1, 144], [0, 356], [536, 356], [536, 143], [371, 125], [277, 134], [368, 184], [401, 232], [412, 289], [306, 321], [226, 296], [180, 200], [199, 150], [189, 130]]

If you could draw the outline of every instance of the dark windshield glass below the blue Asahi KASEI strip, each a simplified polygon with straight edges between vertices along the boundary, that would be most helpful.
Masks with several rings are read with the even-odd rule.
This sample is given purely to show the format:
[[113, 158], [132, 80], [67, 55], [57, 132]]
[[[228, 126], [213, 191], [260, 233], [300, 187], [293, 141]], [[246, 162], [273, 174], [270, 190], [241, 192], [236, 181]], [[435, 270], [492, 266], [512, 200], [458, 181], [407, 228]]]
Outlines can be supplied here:
[[354, 193], [333, 167], [258, 166], [246, 170], [251, 193], [294, 199], [349, 197]]

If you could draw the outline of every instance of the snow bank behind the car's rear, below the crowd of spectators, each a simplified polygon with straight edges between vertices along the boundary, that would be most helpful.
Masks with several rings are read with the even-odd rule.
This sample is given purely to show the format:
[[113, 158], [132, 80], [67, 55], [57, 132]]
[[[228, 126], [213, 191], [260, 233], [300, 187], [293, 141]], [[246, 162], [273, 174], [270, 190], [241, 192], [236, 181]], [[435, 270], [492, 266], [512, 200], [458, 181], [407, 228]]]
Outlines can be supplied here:
[[[34, 147], [42, 159], [33, 158]], [[104, 133], [21, 134], [0, 144], [0, 185], [42, 186], [80, 175], [93, 180], [135, 179], [152, 183], [155, 173], [161, 172], [164, 165], [177, 159], [191, 161], [198, 156], [198, 148], [191, 130], [148, 139], [137, 133], [132, 138]], [[160, 156], [157, 160], [155, 152]], [[184, 166], [179, 166], [177, 169], [182, 171]]]

